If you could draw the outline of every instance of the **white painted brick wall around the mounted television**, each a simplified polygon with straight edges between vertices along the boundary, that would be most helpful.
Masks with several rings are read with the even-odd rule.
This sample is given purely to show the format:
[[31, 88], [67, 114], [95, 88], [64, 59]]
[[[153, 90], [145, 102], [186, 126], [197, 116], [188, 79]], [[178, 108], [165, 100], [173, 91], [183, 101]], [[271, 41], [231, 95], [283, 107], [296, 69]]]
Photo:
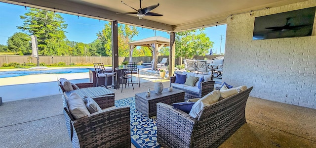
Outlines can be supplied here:
[[253, 86], [253, 97], [316, 108], [316, 22], [311, 37], [252, 40], [255, 17], [313, 6], [307, 0], [228, 18], [223, 81]]

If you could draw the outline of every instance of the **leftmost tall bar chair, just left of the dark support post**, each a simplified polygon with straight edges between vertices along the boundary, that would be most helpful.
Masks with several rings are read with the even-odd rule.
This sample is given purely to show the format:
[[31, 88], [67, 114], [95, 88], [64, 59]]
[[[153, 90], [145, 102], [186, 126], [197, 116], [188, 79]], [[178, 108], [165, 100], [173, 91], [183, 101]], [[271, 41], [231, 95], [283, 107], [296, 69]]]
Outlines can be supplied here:
[[116, 83], [116, 80], [117, 80], [117, 72], [106, 72], [105, 68], [104, 68], [104, 65], [103, 63], [93, 63], [94, 65], [94, 69], [95, 69], [95, 73], [96, 73], [96, 79], [97, 79], [97, 82], [96, 82], [96, 86], [98, 87], [98, 79], [99, 78], [105, 78], [105, 82], [104, 82], [104, 85], [101, 85], [101, 86], [104, 86], [105, 88], [108, 88], [108, 77], [112, 77], [112, 85], [110, 86], [111, 87], [116, 87], [117, 86], [117, 83]]

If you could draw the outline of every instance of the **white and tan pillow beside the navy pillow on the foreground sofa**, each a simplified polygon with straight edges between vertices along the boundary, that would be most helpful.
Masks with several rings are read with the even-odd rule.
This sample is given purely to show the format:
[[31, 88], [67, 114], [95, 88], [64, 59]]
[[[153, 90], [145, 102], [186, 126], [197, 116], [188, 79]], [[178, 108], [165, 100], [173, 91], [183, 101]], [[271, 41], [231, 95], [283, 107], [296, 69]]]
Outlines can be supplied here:
[[203, 98], [198, 99], [196, 103], [192, 106], [189, 115], [193, 118], [198, 118], [201, 115], [203, 107], [209, 106], [212, 103], [215, 103], [219, 100], [220, 93], [219, 90], [208, 93]]

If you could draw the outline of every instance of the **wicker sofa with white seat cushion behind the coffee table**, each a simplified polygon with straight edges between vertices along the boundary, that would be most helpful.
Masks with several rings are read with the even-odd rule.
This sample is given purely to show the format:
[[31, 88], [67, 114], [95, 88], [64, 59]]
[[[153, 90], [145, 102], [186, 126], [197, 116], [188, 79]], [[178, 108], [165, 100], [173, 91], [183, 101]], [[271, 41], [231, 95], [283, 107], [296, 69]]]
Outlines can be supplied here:
[[182, 74], [186, 74], [187, 78], [191, 75], [191, 76], [196, 76], [196, 77], [200, 77], [200, 76], [209, 76], [209, 79], [201, 82], [200, 83], [200, 88], [198, 88], [197, 86], [186, 86], [183, 84], [177, 84], [176, 82], [176, 76], [172, 76], [170, 77], [170, 87], [172, 86], [175, 89], [179, 89], [182, 91], [185, 91], [185, 100], [188, 99], [193, 99], [193, 98], [202, 98], [204, 97], [206, 94], [212, 92], [214, 90], [214, 84], [215, 81], [213, 80], [213, 75], [202, 75], [202, 74], [197, 74], [194, 72], [183, 72]]

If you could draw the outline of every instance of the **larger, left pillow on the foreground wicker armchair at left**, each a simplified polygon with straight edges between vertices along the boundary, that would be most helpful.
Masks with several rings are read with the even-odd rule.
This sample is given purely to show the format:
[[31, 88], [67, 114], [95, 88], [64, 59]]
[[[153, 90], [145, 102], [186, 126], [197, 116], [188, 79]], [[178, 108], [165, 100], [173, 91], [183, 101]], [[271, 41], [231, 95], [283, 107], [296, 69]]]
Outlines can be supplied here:
[[83, 99], [81, 99], [76, 93], [70, 94], [67, 103], [69, 111], [75, 119], [79, 119], [90, 114], [83, 102]]

